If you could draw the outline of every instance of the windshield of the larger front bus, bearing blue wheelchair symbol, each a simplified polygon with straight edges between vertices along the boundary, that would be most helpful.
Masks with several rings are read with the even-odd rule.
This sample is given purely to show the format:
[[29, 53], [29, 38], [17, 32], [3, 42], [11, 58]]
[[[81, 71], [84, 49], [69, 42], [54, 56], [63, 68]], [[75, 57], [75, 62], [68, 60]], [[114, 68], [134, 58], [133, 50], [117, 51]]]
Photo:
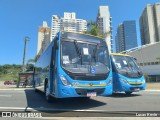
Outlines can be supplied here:
[[106, 74], [110, 70], [106, 45], [82, 41], [63, 41], [61, 66], [72, 73]]

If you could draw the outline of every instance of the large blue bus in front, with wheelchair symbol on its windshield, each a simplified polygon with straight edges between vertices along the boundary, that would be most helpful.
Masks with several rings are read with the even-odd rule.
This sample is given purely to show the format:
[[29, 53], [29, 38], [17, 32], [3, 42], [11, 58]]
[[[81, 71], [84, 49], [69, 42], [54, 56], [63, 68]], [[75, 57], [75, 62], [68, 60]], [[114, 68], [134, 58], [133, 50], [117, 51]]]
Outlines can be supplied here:
[[55, 98], [112, 94], [112, 67], [106, 42], [58, 32], [35, 64], [35, 90]]

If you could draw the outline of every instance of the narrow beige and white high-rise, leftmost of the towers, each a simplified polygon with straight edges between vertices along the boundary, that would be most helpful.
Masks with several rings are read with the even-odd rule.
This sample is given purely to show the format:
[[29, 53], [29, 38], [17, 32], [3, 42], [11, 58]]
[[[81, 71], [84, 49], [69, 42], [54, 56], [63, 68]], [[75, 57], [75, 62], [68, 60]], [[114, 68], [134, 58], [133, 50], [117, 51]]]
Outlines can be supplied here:
[[41, 54], [49, 45], [51, 36], [51, 29], [48, 27], [47, 22], [43, 21], [43, 25], [38, 28], [38, 45], [37, 54]]

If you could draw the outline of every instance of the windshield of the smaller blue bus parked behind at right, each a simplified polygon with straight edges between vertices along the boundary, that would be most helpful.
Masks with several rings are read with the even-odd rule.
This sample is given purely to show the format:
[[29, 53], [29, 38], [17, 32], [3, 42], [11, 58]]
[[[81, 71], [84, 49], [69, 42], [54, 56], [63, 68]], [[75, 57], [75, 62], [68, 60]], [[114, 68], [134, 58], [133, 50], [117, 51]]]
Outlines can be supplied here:
[[132, 77], [142, 76], [142, 71], [133, 57], [112, 55], [112, 61], [118, 73]]

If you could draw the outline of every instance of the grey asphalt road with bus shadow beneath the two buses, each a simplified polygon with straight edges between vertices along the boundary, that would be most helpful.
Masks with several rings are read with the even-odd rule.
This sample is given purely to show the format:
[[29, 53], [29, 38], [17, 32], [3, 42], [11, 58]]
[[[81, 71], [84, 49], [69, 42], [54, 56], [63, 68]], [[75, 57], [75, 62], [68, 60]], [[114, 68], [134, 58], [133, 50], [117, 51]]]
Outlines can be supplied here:
[[[141, 91], [126, 96], [116, 93], [90, 99], [67, 98], [47, 103], [33, 89], [0, 90], [0, 111], [42, 112], [45, 116], [128, 116], [148, 111], [160, 113], [160, 91]], [[44, 114], [43, 114], [44, 115]]]

